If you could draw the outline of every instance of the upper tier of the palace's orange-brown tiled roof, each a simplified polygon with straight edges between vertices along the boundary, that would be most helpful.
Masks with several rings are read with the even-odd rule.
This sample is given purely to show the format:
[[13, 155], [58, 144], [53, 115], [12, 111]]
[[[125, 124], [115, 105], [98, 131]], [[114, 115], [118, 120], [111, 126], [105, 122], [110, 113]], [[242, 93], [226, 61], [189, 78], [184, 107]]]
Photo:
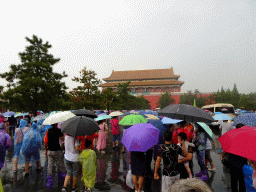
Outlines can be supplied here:
[[134, 70], [134, 71], [112, 71], [110, 77], [103, 79], [108, 80], [136, 80], [136, 79], [167, 79], [180, 77], [174, 75], [173, 68], [170, 69], [149, 69], [149, 70]]

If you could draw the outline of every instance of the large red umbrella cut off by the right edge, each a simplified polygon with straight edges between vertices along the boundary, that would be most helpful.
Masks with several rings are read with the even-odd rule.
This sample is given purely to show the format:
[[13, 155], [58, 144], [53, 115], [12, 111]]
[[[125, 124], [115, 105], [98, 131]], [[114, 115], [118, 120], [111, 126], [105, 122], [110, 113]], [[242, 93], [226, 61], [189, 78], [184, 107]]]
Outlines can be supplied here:
[[223, 151], [256, 161], [256, 127], [244, 126], [219, 138]]

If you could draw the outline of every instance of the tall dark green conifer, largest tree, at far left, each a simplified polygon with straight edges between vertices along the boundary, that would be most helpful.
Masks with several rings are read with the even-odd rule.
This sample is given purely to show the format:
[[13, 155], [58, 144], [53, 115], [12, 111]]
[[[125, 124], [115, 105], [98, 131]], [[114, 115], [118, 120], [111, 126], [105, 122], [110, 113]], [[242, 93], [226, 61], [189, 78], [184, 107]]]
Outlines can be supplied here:
[[50, 111], [56, 110], [56, 102], [63, 99], [67, 87], [61, 80], [67, 77], [54, 73], [53, 66], [60, 61], [48, 51], [52, 47], [48, 41], [33, 35], [25, 38], [30, 45], [19, 53], [21, 64], [10, 66], [10, 71], [0, 74], [8, 81], [8, 90], [3, 98], [9, 101], [8, 107], [15, 111]]

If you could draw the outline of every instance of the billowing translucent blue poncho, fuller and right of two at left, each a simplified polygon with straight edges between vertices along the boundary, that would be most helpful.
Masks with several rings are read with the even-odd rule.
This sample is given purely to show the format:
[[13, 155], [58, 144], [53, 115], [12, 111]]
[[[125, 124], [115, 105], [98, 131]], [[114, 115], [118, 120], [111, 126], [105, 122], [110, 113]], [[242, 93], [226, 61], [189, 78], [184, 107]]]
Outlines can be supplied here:
[[21, 153], [26, 157], [27, 155], [33, 156], [42, 148], [42, 137], [38, 132], [36, 123], [33, 123], [30, 130], [25, 134], [21, 146]]

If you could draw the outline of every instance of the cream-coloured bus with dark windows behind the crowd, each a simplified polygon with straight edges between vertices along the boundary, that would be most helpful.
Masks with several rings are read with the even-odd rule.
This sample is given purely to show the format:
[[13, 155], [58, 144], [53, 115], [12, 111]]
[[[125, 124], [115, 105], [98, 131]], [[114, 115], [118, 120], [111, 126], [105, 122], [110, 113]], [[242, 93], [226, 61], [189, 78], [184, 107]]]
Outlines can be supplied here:
[[202, 109], [207, 109], [213, 113], [215, 112], [225, 113], [227, 115], [230, 115], [233, 118], [236, 116], [234, 106], [228, 103], [216, 103], [212, 105], [205, 105], [202, 107]]

